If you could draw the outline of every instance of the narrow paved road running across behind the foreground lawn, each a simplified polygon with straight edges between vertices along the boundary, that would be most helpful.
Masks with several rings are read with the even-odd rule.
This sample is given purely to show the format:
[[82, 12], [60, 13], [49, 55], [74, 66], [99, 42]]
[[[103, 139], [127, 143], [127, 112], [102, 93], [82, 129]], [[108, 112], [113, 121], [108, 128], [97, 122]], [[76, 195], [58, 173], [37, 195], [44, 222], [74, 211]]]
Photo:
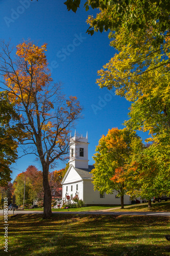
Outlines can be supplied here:
[[[9, 215], [13, 215], [13, 211], [8, 211]], [[14, 211], [16, 214], [43, 214], [43, 211]], [[170, 212], [165, 211], [53, 211], [53, 214], [95, 214], [95, 215], [144, 215], [144, 216], [167, 216], [170, 217]], [[0, 215], [3, 215], [3, 210], [0, 210]]]

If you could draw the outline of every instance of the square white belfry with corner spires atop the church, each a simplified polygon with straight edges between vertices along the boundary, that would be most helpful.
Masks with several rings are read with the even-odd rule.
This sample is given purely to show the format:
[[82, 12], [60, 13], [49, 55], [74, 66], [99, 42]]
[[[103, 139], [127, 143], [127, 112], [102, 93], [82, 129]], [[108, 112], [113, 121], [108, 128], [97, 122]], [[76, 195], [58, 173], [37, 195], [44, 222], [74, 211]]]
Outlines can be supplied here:
[[69, 163], [75, 168], [88, 169], [88, 134], [86, 137], [70, 135]]

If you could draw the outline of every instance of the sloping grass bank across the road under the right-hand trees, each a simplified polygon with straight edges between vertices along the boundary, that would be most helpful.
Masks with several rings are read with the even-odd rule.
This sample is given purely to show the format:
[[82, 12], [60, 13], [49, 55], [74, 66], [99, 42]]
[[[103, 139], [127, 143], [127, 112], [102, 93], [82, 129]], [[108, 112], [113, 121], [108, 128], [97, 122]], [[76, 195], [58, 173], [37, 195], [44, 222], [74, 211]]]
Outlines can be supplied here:
[[133, 204], [130, 206], [125, 206], [124, 209], [111, 210], [111, 211], [170, 211], [170, 201], [161, 203], [152, 203], [152, 207], [148, 208], [148, 203], [144, 204]]

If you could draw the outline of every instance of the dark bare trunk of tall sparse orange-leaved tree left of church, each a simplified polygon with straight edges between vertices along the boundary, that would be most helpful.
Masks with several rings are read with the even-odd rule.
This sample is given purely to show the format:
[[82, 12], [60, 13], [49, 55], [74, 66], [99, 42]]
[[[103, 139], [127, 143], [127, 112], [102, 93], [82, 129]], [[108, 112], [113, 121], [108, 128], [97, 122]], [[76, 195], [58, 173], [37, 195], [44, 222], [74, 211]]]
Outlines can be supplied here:
[[48, 183], [48, 169], [43, 168], [43, 188], [44, 188], [44, 208], [43, 219], [48, 219], [52, 216], [52, 194]]

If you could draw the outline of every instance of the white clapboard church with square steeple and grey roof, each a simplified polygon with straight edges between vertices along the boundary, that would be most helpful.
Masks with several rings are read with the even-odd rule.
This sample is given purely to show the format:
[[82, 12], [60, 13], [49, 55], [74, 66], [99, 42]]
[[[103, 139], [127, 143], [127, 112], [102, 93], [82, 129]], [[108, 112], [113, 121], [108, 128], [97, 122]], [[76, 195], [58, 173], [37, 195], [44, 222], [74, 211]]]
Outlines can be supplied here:
[[[61, 182], [62, 200], [70, 199], [76, 195], [82, 199], [85, 205], [120, 205], [120, 197], [117, 191], [113, 194], [100, 194], [93, 189], [91, 170], [93, 165], [88, 165], [88, 135], [70, 137], [69, 168]], [[124, 204], [131, 204], [130, 197], [124, 196]]]

